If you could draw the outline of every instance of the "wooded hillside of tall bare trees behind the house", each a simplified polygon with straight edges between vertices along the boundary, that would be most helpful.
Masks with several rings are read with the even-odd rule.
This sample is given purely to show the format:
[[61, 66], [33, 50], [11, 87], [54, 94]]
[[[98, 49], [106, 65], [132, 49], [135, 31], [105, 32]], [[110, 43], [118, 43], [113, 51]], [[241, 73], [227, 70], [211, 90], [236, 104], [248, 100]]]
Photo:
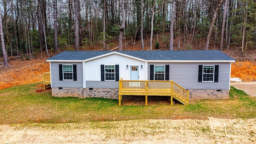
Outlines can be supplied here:
[[[111, 50], [150, 39], [172, 50], [256, 49], [256, 0], [2, 0], [8, 56], [57, 51]], [[122, 10], [123, 8], [123, 10]], [[122, 23], [123, 21], [123, 23]], [[120, 33], [122, 31], [122, 33]], [[168, 32], [168, 34], [164, 34]], [[152, 44], [152, 36], [154, 43]], [[120, 46], [119, 46], [120, 48]], [[0, 52], [1, 53], [1, 52]]]

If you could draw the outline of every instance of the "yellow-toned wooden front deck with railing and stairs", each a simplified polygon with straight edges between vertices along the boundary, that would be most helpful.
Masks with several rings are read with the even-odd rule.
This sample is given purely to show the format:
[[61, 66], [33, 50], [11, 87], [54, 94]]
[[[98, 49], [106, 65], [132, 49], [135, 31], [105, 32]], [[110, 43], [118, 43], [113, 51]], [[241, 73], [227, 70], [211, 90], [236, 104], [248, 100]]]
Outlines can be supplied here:
[[173, 98], [184, 105], [188, 105], [188, 90], [182, 88], [173, 81], [161, 80], [119, 80], [119, 106], [123, 95], [145, 96], [145, 104], [148, 105], [148, 96], [170, 96], [170, 104]]

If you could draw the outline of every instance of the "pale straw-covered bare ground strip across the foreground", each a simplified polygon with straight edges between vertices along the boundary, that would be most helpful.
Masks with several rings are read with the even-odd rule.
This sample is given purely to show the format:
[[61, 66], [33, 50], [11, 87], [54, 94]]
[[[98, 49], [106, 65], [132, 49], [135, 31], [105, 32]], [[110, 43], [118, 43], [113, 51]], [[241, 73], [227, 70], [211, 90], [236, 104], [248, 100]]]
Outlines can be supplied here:
[[0, 143], [184, 144], [256, 142], [256, 119], [128, 120], [0, 125]]

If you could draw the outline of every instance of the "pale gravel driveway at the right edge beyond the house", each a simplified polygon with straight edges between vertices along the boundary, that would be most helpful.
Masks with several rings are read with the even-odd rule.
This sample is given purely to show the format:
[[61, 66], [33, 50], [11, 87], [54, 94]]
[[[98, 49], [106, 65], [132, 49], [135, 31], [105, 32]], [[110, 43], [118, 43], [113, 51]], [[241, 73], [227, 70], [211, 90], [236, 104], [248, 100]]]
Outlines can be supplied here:
[[243, 90], [249, 96], [256, 97], [256, 82], [234, 82], [230, 85], [238, 90]]

